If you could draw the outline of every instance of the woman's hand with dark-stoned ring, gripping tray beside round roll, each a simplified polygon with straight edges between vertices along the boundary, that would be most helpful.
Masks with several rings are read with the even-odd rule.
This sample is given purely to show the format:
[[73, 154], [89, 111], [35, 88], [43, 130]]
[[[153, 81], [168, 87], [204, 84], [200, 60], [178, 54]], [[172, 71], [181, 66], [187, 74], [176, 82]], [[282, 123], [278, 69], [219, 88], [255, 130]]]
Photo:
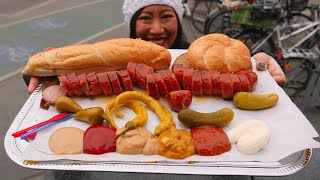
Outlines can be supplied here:
[[260, 52], [252, 56], [257, 62], [257, 70], [265, 71], [268, 69], [273, 79], [283, 86], [287, 82], [286, 76], [277, 61], [266, 53]]

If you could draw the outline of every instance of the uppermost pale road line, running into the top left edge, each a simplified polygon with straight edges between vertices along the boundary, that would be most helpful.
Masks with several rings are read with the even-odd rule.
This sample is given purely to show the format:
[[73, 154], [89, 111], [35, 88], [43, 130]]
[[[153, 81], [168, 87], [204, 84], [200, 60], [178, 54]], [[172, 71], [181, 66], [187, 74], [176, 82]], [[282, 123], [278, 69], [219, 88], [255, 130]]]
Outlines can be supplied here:
[[18, 23], [22, 23], [22, 22], [25, 22], [25, 21], [30, 21], [32, 19], [37, 19], [37, 18], [49, 16], [49, 15], [52, 15], [52, 14], [58, 14], [58, 13], [61, 13], [61, 12], [64, 12], [64, 11], [68, 11], [68, 10], [71, 10], [71, 9], [76, 9], [76, 8], [80, 8], [80, 7], [84, 7], [84, 6], [89, 6], [89, 5], [97, 4], [97, 3], [100, 3], [100, 2], [104, 2], [104, 1], [105, 0], [96, 0], [96, 1], [91, 1], [91, 2], [88, 2], [88, 3], [80, 4], [80, 5], [77, 5], [77, 6], [65, 8], [65, 9], [59, 9], [59, 10], [52, 11], [52, 12], [49, 12], [49, 13], [46, 13], [46, 14], [41, 14], [39, 16], [33, 16], [31, 18], [27, 18], [27, 19], [22, 19], [22, 20], [19, 20], [19, 21], [11, 22], [9, 24], [4, 24], [4, 25], [0, 26], [0, 29], [4, 28], [4, 27], [15, 25], [15, 24], [18, 24]]

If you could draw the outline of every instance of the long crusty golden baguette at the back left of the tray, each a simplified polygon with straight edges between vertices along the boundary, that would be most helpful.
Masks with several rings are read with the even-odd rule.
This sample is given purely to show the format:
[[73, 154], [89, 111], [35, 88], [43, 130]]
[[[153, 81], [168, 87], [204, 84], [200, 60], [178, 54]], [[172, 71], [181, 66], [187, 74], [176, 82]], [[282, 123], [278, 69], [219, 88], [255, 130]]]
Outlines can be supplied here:
[[166, 48], [151, 42], [119, 38], [40, 52], [29, 59], [22, 73], [56, 76], [72, 72], [103, 72], [124, 69], [130, 61], [143, 62], [155, 69], [167, 69], [171, 55]]

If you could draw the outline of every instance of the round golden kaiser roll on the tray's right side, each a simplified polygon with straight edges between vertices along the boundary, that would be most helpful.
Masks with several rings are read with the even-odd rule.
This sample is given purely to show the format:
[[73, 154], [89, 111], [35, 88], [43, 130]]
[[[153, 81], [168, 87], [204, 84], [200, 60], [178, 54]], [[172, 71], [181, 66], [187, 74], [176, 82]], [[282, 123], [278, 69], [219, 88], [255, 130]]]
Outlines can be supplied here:
[[208, 34], [196, 39], [188, 49], [195, 69], [215, 69], [221, 73], [252, 69], [250, 51], [241, 41], [224, 34]]

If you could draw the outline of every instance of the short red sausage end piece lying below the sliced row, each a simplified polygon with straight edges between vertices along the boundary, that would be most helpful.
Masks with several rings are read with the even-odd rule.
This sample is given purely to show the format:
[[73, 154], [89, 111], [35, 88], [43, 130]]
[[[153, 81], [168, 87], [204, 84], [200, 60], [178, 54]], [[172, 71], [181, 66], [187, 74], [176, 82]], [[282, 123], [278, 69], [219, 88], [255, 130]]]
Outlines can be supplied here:
[[192, 102], [192, 93], [189, 90], [172, 91], [168, 93], [168, 101], [172, 110], [179, 112], [189, 108]]

